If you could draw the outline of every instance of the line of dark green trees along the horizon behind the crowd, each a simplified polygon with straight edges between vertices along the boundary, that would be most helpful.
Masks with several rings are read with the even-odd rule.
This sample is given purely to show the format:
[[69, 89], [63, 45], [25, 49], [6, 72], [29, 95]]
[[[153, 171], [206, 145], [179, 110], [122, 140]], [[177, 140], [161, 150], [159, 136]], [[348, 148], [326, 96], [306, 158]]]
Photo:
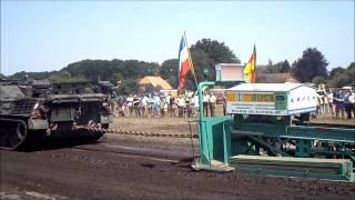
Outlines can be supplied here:
[[[241, 63], [240, 58], [224, 43], [212, 39], [202, 39], [192, 44], [191, 57], [197, 81], [214, 80], [216, 63]], [[176, 53], [178, 54], [178, 53]], [[73, 62], [59, 71], [26, 72], [20, 71], [0, 79], [49, 79], [51, 82], [97, 81], [108, 80], [116, 84], [119, 92], [128, 94], [138, 89], [138, 79], [145, 76], [161, 76], [172, 87], [178, 86], [178, 59], [168, 59], [162, 64], [140, 60], [82, 60]], [[331, 87], [342, 87], [354, 81], [355, 64], [347, 68], [337, 67], [327, 71], [328, 62], [316, 48], [307, 48], [301, 58], [292, 64], [287, 60], [266, 64], [265, 73], [291, 73], [301, 82], [328, 83]], [[207, 70], [207, 77], [204, 72]], [[187, 74], [186, 89], [195, 89], [192, 72]]]

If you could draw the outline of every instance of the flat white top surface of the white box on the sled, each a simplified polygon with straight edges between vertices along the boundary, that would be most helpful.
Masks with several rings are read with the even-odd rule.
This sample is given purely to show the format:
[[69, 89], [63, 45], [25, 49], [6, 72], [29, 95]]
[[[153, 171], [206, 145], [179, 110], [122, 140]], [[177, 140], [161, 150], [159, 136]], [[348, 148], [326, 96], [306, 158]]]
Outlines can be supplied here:
[[307, 87], [303, 83], [243, 83], [227, 89], [229, 91], [275, 92], [291, 91], [298, 87]]

